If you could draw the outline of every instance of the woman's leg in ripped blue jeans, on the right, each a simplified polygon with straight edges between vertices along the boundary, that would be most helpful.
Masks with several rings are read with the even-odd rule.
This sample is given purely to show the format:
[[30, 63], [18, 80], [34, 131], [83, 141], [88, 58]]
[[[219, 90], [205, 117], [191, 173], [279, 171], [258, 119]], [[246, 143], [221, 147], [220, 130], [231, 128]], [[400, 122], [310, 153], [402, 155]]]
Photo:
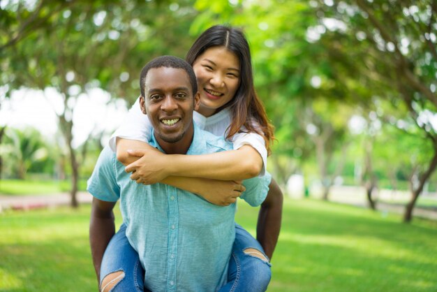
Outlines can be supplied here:
[[228, 283], [221, 287], [225, 291], [266, 291], [272, 277], [269, 258], [261, 244], [235, 224], [235, 242], [229, 262]]

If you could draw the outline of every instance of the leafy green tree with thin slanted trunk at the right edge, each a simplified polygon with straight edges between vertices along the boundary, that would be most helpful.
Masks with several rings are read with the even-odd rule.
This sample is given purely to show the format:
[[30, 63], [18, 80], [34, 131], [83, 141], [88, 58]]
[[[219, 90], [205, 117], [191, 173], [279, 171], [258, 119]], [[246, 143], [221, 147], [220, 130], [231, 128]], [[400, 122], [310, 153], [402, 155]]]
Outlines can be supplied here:
[[[437, 167], [437, 129], [431, 124], [431, 112], [436, 112], [437, 27], [435, 1], [320, 1], [316, 6], [320, 22], [340, 27], [340, 34], [350, 36], [350, 50], [362, 54], [357, 76], [369, 86], [373, 96], [391, 101], [408, 109], [409, 119], [415, 124], [406, 129], [417, 139], [429, 141], [433, 154], [427, 166], [420, 168], [418, 182], [412, 189], [404, 221], [412, 219], [412, 211], [424, 184]], [[325, 34], [322, 38], [330, 39]], [[434, 41], [433, 41], [434, 40]]]

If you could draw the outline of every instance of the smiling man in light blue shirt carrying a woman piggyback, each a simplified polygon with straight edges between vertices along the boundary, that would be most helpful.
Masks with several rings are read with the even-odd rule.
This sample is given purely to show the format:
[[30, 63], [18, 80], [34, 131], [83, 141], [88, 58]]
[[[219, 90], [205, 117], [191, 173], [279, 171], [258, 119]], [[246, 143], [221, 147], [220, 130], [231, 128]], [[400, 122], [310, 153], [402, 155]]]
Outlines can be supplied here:
[[[193, 124], [199, 95], [193, 69], [186, 61], [170, 56], [152, 60], [142, 70], [140, 85], [141, 108], [154, 128], [150, 145], [168, 154], [232, 149], [223, 138]], [[241, 196], [251, 205], [260, 205], [265, 198], [255, 191], [258, 183], [258, 177], [248, 180]], [[98, 277], [103, 252], [114, 235], [112, 208], [120, 199], [123, 228], [145, 269], [146, 289], [216, 291], [227, 282], [235, 204], [221, 207], [165, 184], [137, 184], [108, 147], [89, 180], [89, 192], [95, 197], [90, 241]], [[124, 274], [119, 271], [117, 277]]]

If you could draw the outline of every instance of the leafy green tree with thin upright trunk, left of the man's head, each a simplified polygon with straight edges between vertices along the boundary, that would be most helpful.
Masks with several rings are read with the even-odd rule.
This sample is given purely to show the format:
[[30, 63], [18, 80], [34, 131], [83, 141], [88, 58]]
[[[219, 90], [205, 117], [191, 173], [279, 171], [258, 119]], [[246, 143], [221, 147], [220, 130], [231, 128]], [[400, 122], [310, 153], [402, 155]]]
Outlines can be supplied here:
[[[72, 170], [73, 207], [77, 207], [79, 177], [77, 153], [72, 144], [77, 96], [101, 87], [112, 96], [136, 98], [137, 76], [149, 59], [170, 53], [182, 57], [188, 50], [186, 44], [192, 40], [187, 37], [181, 41], [179, 36], [188, 30], [188, 20], [193, 17], [189, 3], [71, 1], [55, 9], [56, 4], [41, 0], [30, 8], [24, 1], [7, 3], [2, 10], [8, 15], [3, 23], [9, 33], [19, 36], [3, 41], [5, 45], [0, 51], [5, 57], [1, 61], [1, 79], [8, 84], [8, 90], [51, 87], [64, 100], [64, 109], [57, 115]], [[33, 19], [42, 17], [44, 21], [38, 29], [20, 33], [20, 28], [28, 27], [30, 17], [21, 15], [36, 15]]]

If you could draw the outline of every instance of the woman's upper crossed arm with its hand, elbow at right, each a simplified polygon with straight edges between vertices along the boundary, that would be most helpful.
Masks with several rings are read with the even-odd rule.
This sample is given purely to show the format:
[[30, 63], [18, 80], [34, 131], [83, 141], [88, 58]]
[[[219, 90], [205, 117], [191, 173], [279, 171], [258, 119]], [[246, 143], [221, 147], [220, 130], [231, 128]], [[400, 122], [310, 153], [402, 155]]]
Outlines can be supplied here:
[[[135, 144], [138, 145], [137, 142]], [[249, 145], [237, 150], [203, 155], [166, 155], [149, 151], [145, 147], [126, 152], [132, 156], [141, 156], [138, 161], [126, 167], [126, 172], [133, 173], [132, 180], [144, 184], [154, 184], [169, 176], [246, 180], [257, 176], [263, 166], [260, 154]], [[117, 158], [118, 153], [117, 146]]]

